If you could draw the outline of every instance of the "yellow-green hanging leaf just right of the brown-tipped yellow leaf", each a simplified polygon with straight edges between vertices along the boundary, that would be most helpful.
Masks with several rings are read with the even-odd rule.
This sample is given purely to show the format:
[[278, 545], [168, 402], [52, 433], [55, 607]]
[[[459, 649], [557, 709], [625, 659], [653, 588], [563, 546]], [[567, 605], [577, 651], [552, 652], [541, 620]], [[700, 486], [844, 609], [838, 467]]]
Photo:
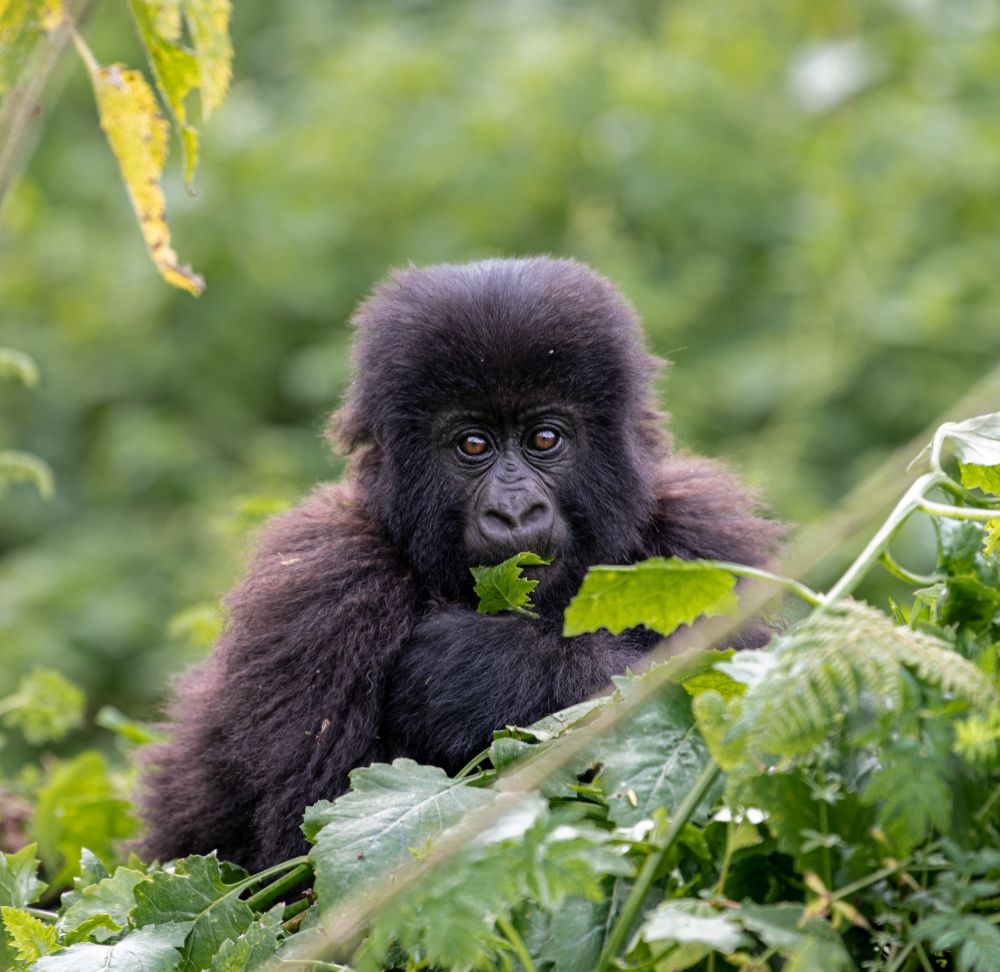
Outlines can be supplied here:
[[156, 86], [174, 116], [184, 154], [184, 181], [190, 185], [198, 165], [198, 131], [188, 124], [184, 101], [201, 83], [201, 71], [194, 54], [174, 43], [180, 34], [180, 2], [165, 6], [159, 0], [129, 0], [129, 7]]

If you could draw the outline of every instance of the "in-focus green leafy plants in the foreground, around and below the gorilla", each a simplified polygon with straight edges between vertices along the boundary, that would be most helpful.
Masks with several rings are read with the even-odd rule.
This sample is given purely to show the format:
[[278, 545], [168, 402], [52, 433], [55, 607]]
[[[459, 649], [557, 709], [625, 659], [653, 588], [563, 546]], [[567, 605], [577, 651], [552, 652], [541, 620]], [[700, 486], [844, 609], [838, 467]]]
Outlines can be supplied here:
[[[964, 485], [943, 470], [946, 442]], [[260, 874], [214, 855], [111, 873], [127, 806], [84, 753], [36, 797], [43, 859], [57, 886], [79, 860], [74, 887], [58, 911], [32, 907], [46, 891], [34, 845], [0, 857], [0, 965], [997, 972], [1000, 413], [942, 426], [918, 464], [823, 595], [712, 561], [595, 568], [567, 634], [738, 620], [740, 598], [745, 617], [775, 587], [811, 611], [759, 651], [695, 644], [610, 698], [508, 726], [453, 779], [408, 759], [358, 768], [348, 794], [305, 809], [308, 857]], [[889, 552], [914, 514], [938, 536], [926, 578]], [[908, 617], [850, 599], [880, 560], [927, 585]], [[481, 610], [525, 613], [526, 562], [477, 572]], [[757, 590], [738, 596], [738, 576]], [[72, 692], [40, 672], [5, 719], [60, 735]]]

